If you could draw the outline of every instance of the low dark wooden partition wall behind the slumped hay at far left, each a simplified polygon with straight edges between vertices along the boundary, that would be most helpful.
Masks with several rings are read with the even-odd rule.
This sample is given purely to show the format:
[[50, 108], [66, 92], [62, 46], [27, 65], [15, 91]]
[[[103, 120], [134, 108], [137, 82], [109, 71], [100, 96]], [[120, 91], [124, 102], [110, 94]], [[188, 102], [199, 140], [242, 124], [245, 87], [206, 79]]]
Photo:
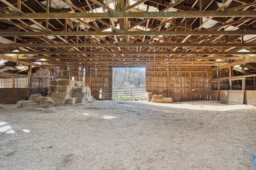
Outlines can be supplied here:
[[0, 88], [0, 104], [28, 100], [31, 94], [47, 95], [48, 88]]

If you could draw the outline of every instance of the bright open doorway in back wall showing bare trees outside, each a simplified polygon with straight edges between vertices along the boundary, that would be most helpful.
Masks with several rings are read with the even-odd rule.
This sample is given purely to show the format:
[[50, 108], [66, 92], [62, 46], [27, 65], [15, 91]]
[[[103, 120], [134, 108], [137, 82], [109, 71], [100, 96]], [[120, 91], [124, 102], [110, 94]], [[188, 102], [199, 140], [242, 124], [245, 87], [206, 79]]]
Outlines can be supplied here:
[[112, 76], [112, 100], [145, 99], [145, 68], [114, 67]]

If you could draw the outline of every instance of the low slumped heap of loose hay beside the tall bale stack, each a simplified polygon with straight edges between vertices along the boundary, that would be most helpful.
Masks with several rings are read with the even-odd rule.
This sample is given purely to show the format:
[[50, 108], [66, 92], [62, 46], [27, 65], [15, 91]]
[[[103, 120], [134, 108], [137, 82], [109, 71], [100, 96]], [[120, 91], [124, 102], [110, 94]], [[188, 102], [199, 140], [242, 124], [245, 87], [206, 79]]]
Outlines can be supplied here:
[[17, 102], [16, 105], [18, 108], [24, 107], [42, 107], [42, 108], [50, 108], [54, 106], [54, 101], [50, 98], [44, 97], [41, 94], [32, 94], [29, 100], [22, 100]]

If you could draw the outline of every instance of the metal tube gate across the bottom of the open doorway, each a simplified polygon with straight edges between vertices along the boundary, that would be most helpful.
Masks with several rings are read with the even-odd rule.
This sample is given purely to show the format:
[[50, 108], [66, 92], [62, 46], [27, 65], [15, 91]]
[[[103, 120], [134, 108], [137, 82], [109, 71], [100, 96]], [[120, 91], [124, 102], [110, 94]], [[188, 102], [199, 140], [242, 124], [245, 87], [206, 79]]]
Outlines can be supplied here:
[[102, 90], [103, 100], [145, 100], [146, 88], [106, 88]]

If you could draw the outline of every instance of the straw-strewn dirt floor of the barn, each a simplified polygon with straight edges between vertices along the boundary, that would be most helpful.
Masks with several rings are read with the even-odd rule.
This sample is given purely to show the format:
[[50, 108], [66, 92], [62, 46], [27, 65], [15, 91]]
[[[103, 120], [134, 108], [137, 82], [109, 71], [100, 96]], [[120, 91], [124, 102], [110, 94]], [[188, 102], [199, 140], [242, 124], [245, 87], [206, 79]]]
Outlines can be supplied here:
[[0, 105], [1, 170], [254, 170], [256, 106], [94, 101]]

